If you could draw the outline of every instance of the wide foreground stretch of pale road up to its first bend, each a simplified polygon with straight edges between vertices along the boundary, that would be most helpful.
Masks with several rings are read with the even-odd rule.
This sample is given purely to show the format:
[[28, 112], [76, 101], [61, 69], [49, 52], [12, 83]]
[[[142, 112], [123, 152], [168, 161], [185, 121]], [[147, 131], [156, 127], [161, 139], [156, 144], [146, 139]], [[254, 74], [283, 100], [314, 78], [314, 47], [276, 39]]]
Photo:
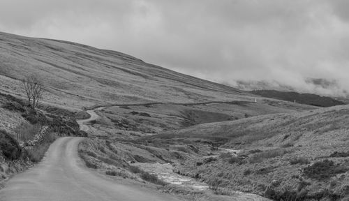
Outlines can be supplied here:
[[61, 137], [36, 167], [15, 175], [0, 191], [1, 201], [177, 200], [137, 186], [117, 184], [84, 167], [77, 154], [82, 137]]

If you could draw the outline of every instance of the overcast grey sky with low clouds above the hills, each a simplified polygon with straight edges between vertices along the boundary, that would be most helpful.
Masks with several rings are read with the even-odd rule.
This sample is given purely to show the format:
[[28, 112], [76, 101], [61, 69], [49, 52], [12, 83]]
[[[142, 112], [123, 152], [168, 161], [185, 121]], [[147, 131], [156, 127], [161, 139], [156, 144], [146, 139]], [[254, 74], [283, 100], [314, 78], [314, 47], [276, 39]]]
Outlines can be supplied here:
[[349, 91], [346, 0], [1, 0], [0, 31], [117, 50], [233, 86]]

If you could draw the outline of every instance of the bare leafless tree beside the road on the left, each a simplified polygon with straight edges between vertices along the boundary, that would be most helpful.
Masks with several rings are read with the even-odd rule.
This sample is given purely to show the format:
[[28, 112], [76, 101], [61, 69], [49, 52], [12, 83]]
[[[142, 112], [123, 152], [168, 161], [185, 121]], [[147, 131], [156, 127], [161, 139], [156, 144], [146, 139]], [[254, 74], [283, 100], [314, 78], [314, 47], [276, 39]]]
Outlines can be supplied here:
[[43, 82], [37, 75], [29, 75], [22, 80], [22, 83], [27, 94], [28, 105], [35, 109], [38, 107], [38, 101], [43, 98]]

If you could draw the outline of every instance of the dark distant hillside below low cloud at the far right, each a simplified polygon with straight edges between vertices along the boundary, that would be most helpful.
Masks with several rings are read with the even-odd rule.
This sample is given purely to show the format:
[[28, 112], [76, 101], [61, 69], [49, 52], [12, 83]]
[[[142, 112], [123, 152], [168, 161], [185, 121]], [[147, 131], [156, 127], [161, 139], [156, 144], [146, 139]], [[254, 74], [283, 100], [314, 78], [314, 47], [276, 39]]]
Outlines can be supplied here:
[[314, 105], [318, 107], [332, 107], [336, 105], [346, 105], [343, 101], [338, 101], [327, 96], [319, 96], [316, 94], [299, 94], [290, 91], [276, 91], [276, 90], [254, 90], [251, 94], [263, 96], [266, 98], [275, 98], [283, 101], [296, 101], [297, 103]]

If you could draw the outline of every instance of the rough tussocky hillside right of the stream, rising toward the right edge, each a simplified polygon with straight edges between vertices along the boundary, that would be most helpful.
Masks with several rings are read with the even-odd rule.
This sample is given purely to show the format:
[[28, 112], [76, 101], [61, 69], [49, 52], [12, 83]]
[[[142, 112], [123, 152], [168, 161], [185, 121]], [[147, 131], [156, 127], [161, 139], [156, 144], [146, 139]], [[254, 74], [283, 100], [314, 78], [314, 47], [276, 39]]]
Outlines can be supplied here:
[[348, 106], [341, 105], [200, 124], [146, 139], [211, 144], [201, 158], [186, 160], [176, 170], [211, 185], [274, 200], [346, 200], [348, 118]]

